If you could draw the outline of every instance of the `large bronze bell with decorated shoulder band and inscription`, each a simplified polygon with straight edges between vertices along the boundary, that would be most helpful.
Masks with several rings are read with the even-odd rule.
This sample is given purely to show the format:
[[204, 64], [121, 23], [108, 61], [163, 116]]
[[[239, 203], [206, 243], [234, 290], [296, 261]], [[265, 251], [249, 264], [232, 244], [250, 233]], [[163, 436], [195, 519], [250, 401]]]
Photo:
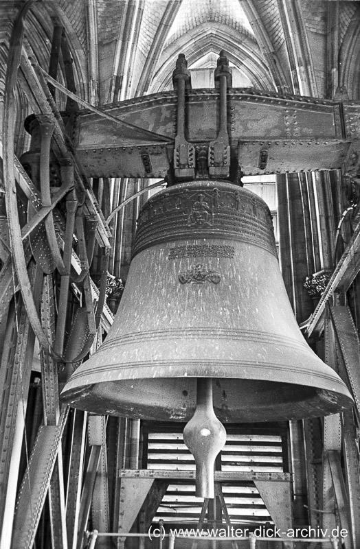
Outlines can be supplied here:
[[225, 422], [317, 417], [352, 402], [297, 327], [267, 205], [219, 180], [146, 202], [113, 326], [63, 399], [99, 414], [187, 421], [198, 377], [214, 379]]

